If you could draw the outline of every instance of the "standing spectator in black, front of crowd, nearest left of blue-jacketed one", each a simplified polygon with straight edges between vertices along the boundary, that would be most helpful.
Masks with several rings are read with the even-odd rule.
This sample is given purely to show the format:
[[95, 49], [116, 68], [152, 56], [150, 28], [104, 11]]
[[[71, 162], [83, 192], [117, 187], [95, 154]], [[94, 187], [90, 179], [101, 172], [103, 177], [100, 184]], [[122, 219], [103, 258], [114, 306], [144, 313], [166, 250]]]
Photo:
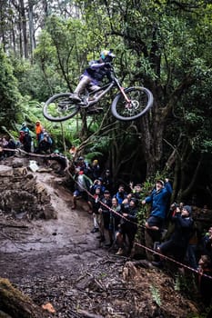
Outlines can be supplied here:
[[119, 247], [116, 255], [123, 255], [125, 253], [126, 236], [128, 238], [127, 254], [130, 254], [132, 251], [137, 231], [137, 203], [136, 198], [131, 198], [128, 209], [122, 214], [125, 218], [121, 219], [116, 233], [116, 243]]

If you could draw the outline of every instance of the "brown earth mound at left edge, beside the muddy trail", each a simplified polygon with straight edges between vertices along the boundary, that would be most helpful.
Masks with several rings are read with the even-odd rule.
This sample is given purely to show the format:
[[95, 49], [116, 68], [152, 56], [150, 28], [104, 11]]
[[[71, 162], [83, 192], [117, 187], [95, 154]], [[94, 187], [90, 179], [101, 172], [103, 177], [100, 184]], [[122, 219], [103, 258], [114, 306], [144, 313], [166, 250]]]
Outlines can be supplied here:
[[37, 181], [34, 172], [28, 174], [28, 162], [23, 162], [15, 158], [10, 165], [0, 165], [0, 210], [4, 214], [17, 214], [15, 218], [24, 213], [29, 219], [56, 219], [45, 185]]

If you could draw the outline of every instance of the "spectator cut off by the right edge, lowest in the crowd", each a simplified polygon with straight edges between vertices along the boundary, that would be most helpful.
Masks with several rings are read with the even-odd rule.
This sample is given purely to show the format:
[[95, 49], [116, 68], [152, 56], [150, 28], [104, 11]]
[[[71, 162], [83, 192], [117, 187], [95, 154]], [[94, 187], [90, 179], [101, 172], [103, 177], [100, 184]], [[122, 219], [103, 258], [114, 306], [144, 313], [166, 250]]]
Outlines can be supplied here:
[[[208, 307], [211, 305], [212, 300], [212, 267], [210, 258], [207, 255], [202, 255], [198, 266], [199, 292], [201, 293], [203, 303]], [[211, 278], [204, 276], [204, 274]]]

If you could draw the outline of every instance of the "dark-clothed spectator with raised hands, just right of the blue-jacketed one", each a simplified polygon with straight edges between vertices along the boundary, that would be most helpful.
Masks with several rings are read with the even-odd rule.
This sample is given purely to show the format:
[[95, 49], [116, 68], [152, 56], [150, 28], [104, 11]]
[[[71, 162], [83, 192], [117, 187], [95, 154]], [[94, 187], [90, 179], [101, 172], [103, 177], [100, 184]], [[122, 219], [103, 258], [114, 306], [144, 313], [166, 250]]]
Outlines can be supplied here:
[[[157, 246], [157, 252], [172, 255], [177, 262], [183, 263], [194, 223], [191, 218], [191, 207], [185, 205], [182, 212], [177, 207], [176, 213], [172, 216], [172, 221], [175, 224], [174, 232], [168, 241]], [[163, 266], [163, 258], [160, 262], [153, 262], [153, 264]]]

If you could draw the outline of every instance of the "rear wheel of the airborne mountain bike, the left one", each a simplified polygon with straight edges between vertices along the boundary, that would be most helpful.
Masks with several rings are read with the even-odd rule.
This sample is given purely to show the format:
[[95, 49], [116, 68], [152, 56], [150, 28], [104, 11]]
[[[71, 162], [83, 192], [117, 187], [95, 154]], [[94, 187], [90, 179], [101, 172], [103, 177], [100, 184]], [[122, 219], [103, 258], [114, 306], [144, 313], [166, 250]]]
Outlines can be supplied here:
[[45, 118], [51, 122], [64, 122], [74, 117], [80, 106], [74, 104], [69, 97], [70, 93], [55, 94], [50, 97], [43, 108]]

